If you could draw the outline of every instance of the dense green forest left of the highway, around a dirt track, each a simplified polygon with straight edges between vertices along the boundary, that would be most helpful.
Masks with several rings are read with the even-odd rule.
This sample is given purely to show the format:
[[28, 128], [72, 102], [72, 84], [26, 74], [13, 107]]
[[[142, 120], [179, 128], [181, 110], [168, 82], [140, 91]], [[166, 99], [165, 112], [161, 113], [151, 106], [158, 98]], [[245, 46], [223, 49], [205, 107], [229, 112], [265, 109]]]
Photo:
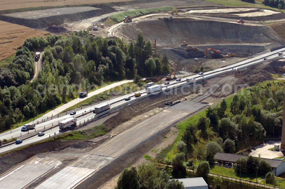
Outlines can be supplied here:
[[[43, 68], [30, 82], [33, 56], [40, 51], [44, 51]], [[0, 131], [73, 99], [76, 89], [79, 92], [101, 81], [169, 72], [168, 57], [154, 52], [141, 33], [130, 44], [121, 38], [92, 36], [88, 31], [29, 38], [9, 66], [0, 68]]]

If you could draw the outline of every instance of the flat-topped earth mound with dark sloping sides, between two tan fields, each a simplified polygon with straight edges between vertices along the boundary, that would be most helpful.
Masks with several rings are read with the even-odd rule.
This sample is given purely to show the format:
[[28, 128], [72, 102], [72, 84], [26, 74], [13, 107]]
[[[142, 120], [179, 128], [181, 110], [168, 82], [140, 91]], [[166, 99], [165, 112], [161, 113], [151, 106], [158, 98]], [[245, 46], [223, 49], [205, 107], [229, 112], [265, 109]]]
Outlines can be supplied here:
[[[48, 26], [60, 25], [65, 22], [84, 20], [87, 18], [96, 17], [99, 15], [117, 11], [116, 9], [110, 6], [107, 6], [107, 5], [99, 5], [95, 7], [95, 8], [98, 8], [96, 10], [90, 10], [90, 9], [87, 9], [90, 7], [86, 7], [87, 10], [84, 11], [83, 10], [84, 7], [79, 7], [79, 8], [82, 9], [82, 11], [74, 12], [74, 9], [76, 9], [76, 7], [57, 9], [56, 11], [63, 12], [63, 13], [62, 14], [59, 13], [58, 15], [53, 15], [53, 16], [49, 16], [52, 13], [47, 13], [46, 15], [48, 16], [41, 15], [41, 16], [38, 16], [36, 19], [34, 19], [33, 17], [30, 17], [30, 12], [0, 15], [0, 19], [6, 22], [14, 23], [14, 24], [24, 25], [30, 28], [46, 28]], [[69, 10], [72, 13], [69, 13]], [[38, 12], [38, 11], [34, 11], [34, 12]], [[28, 18], [25, 15], [27, 15]]]

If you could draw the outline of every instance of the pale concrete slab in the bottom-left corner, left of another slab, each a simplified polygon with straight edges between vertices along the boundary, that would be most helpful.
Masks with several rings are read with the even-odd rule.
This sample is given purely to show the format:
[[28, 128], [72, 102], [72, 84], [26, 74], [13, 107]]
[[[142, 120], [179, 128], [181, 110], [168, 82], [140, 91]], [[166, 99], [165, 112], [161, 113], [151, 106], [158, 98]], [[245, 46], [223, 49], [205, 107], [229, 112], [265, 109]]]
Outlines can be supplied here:
[[27, 164], [0, 178], [0, 188], [24, 188], [52, 168], [53, 166], [49, 165]]

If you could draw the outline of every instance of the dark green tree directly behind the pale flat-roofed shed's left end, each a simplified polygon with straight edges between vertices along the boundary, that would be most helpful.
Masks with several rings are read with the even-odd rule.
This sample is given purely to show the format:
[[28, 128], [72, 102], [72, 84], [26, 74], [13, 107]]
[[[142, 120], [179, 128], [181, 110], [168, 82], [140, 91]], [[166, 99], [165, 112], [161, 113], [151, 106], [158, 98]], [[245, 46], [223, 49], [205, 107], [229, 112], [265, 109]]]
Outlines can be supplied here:
[[186, 178], [186, 167], [184, 166], [185, 154], [177, 153], [172, 159], [173, 178]]

